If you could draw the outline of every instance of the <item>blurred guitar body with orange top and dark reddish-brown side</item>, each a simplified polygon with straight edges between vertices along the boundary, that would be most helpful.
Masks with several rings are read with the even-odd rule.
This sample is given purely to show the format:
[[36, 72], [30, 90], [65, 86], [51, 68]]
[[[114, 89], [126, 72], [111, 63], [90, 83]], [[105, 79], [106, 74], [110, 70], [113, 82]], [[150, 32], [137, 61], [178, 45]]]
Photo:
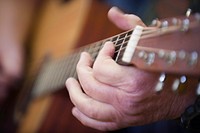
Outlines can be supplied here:
[[[45, 1], [31, 40], [28, 77], [36, 75], [46, 57], [56, 59], [84, 44], [121, 32], [107, 19], [108, 9], [97, 0]], [[22, 92], [20, 96], [24, 95]], [[100, 132], [84, 127], [72, 116], [72, 103], [65, 88], [32, 99], [23, 108], [26, 108], [23, 114], [15, 114], [18, 132]]]

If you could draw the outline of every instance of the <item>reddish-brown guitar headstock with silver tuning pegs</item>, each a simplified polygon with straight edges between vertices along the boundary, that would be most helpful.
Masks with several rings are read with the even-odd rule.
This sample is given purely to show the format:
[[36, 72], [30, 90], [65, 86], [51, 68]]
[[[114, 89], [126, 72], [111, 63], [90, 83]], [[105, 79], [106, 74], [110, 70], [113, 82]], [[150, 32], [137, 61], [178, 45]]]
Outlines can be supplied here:
[[[127, 48], [134, 49], [131, 54], [125, 50], [124, 56], [130, 61], [122, 60], [139, 69], [161, 73], [156, 91], [162, 90], [167, 74], [180, 75], [172, 85], [174, 91], [189, 76], [200, 79], [200, 14], [153, 20], [150, 27], [142, 30], [137, 44], [127, 44]], [[132, 35], [137, 33], [133, 31]], [[200, 83], [197, 94], [200, 95]]]

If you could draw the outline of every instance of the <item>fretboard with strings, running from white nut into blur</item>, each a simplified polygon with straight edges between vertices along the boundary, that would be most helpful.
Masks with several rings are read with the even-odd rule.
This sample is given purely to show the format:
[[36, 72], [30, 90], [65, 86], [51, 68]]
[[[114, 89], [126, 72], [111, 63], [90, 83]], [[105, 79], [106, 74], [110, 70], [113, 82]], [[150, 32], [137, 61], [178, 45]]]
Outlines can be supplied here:
[[65, 86], [65, 81], [69, 77], [75, 77], [76, 65], [78, 63], [81, 52], [86, 51], [91, 54], [95, 60], [100, 49], [107, 41], [112, 41], [115, 46], [114, 60], [121, 62], [125, 47], [130, 39], [133, 30], [115, 35], [113, 37], [89, 44], [81, 47], [73, 52], [73, 54], [64, 56], [57, 60], [45, 62], [37, 76], [33, 87], [33, 97], [48, 94]]

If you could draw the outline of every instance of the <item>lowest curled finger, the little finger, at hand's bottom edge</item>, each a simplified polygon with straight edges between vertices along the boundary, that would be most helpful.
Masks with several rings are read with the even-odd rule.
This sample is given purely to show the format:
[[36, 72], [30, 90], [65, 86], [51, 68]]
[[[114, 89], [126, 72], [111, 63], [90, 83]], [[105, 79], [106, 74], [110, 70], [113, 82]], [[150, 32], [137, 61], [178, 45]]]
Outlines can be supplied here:
[[77, 108], [72, 109], [72, 114], [85, 126], [95, 128], [101, 131], [111, 131], [118, 129], [115, 122], [104, 122], [98, 121], [92, 118], [87, 117], [82, 112], [80, 112]]

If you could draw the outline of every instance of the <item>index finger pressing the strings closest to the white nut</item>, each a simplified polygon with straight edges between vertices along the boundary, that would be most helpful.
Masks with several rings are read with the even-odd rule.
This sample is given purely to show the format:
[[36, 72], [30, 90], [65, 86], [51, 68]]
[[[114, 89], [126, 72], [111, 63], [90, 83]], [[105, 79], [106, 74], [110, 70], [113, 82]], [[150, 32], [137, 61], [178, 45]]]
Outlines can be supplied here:
[[129, 67], [122, 67], [112, 59], [113, 51], [113, 43], [105, 43], [94, 62], [93, 71], [95, 79], [99, 82], [117, 85], [126, 79], [127, 75], [132, 76], [132, 73]]

